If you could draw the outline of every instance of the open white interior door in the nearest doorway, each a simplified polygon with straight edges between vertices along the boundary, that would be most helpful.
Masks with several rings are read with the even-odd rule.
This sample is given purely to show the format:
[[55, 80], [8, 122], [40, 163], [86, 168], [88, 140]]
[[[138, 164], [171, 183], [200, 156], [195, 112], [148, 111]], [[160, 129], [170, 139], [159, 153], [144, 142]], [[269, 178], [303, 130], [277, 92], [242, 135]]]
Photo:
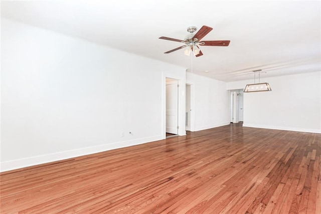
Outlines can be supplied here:
[[178, 81], [166, 83], [166, 132], [178, 134]]

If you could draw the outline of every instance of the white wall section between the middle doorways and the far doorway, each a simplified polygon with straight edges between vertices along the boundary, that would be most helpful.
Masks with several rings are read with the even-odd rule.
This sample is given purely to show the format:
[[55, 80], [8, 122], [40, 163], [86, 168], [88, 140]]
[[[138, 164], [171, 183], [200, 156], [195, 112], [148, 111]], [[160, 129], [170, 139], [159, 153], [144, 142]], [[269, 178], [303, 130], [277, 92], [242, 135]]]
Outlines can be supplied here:
[[[194, 93], [194, 130], [214, 128], [229, 124], [229, 91], [226, 83], [211, 78], [186, 73], [187, 83]], [[193, 121], [194, 120], [194, 121]]]

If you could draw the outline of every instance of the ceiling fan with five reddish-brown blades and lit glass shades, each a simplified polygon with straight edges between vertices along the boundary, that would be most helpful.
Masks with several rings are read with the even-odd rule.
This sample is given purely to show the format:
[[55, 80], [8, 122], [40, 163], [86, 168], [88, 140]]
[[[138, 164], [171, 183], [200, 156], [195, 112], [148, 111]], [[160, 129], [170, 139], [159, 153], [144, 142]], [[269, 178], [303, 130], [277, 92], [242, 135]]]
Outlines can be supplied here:
[[159, 37], [158, 39], [162, 40], [170, 40], [174, 42], [180, 42], [184, 43], [183, 46], [178, 47], [176, 49], [170, 50], [168, 52], [165, 52], [164, 54], [169, 54], [174, 51], [180, 50], [182, 48], [188, 47], [184, 53], [185, 55], [190, 56], [191, 51], [194, 53], [196, 57], [200, 57], [203, 55], [202, 51], [200, 50], [199, 46], [229, 46], [230, 40], [217, 40], [217, 41], [201, 41], [203, 37], [205, 37], [210, 31], [213, 30], [213, 28], [208, 27], [208, 26], [203, 26], [194, 36], [193, 33], [196, 32], [197, 28], [194, 26], [191, 26], [187, 29], [191, 35], [187, 37], [185, 40], [178, 40], [178, 39], [173, 39], [169, 37]]

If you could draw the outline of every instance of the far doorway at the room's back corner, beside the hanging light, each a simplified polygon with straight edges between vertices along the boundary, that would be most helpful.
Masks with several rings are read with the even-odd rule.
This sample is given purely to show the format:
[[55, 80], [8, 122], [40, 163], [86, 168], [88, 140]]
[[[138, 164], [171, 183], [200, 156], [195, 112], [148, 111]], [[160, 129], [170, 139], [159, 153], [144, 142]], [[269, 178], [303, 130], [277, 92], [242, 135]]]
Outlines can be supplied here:
[[243, 89], [230, 90], [230, 122], [243, 122]]

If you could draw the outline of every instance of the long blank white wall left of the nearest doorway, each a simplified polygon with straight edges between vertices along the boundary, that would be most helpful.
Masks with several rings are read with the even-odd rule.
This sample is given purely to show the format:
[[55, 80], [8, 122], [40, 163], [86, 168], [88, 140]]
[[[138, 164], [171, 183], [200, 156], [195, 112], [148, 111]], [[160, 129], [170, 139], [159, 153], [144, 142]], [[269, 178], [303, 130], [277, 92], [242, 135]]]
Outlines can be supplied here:
[[6, 19], [1, 44], [2, 171], [162, 139], [165, 77], [185, 85], [185, 68]]

